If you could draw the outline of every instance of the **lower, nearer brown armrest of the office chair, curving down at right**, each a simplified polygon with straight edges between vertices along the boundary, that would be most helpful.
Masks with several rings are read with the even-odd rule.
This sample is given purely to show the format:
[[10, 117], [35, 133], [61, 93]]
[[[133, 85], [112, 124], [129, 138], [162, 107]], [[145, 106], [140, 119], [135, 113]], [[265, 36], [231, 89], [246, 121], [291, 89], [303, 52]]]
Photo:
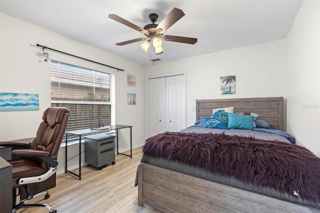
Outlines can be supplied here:
[[50, 165], [50, 167], [56, 167], [58, 161], [49, 157], [48, 151], [41, 151], [37, 149], [15, 149], [11, 151], [12, 155], [21, 157], [39, 157]]

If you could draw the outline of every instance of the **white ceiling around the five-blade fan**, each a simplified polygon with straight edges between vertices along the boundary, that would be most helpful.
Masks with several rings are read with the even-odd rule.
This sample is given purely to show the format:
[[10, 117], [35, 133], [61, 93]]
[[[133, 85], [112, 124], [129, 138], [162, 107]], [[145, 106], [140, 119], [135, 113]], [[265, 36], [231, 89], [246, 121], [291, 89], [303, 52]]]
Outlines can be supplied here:
[[[201, 55], [286, 37], [301, 0], [0, 0], [0, 11], [58, 32], [140, 64]], [[195, 44], [163, 41], [164, 53], [155, 55], [139, 46], [143, 41], [115, 43], [144, 37], [108, 18], [116, 14], [140, 27], [159, 23], [173, 7], [185, 15], [164, 34], [196, 37]], [[43, 44], [47, 45], [47, 44]], [[54, 48], [54, 46], [49, 46]], [[63, 51], [63, 49], [59, 49]], [[69, 52], [72, 53], [72, 52]], [[72, 53], [76, 54], [76, 53]], [[158, 61], [156, 63], [162, 62]]]

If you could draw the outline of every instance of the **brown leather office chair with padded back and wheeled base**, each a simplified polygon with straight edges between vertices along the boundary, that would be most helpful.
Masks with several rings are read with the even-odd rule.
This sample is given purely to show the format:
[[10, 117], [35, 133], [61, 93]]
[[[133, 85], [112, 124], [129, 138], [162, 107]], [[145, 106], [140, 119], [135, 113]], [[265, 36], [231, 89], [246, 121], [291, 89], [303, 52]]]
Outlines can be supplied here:
[[[50, 194], [42, 191], [32, 195], [27, 187], [29, 183], [41, 182], [55, 173], [58, 162], [57, 153], [68, 122], [69, 109], [65, 107], [50, 107], [43, 112], [36, 137], [31, 143], [6, 141], [0, 142], [1, 146], [10, 146], [17, 149], [11, 154], [19, 156], [18, 159], [8, 160], [12, 164], [13, 207], [12, 212], [20, 208], [43, 206], [50, 212], [56, 212], [49, 204], [26, 204], [32, 198], [45, 193], [45, 199]], [[23, 186], [27, 197], [20, 201], [20, 188]]]

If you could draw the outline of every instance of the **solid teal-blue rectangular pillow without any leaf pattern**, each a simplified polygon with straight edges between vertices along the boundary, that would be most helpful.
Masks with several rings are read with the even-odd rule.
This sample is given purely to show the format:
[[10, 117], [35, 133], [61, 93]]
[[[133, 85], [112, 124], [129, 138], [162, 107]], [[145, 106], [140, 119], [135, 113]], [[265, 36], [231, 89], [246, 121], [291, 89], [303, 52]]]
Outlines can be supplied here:
[[251, 115], [228, 113], [228, 128], [252, 129], [253, 119]]

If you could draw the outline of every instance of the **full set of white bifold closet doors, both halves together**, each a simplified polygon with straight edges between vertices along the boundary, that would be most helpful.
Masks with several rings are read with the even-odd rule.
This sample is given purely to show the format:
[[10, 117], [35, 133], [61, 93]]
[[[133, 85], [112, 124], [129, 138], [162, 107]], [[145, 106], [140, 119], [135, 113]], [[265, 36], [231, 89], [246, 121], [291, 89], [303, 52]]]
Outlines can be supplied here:
[[186, 127], [185, 90], [183, 74], [148, 80], [148, 136]]

